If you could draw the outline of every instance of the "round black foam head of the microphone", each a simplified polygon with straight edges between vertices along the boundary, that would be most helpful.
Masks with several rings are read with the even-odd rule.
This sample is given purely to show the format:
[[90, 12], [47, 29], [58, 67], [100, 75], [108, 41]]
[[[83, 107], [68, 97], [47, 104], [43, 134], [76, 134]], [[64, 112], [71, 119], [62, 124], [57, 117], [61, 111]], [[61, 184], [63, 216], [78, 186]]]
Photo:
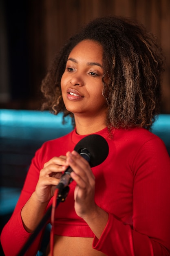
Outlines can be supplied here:
[[77, 143], [74, 148], [74, 150], [77, 151], [79, 154], [81, 153], [82, 149], [86, 149], [90, 154], [89, 164], [91, 167], [102, 164], [102, 162], [104, 162], [104, 160], [108, 156], [109, 150], [106, 139], [97, 134], [92, 134], [84, 137]]

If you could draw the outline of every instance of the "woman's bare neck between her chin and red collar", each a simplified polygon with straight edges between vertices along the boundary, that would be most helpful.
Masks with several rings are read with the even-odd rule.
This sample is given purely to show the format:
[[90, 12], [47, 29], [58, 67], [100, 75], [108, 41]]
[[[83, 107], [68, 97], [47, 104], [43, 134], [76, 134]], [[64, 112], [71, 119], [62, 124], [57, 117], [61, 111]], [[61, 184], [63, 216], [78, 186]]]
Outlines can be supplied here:
[[104, 129], [106, 127], [106, 122], [101, 118], [96, 120], [94, 117], [85, 118], [75, 116], [75, 126], [79, 135], [86, 135]]

